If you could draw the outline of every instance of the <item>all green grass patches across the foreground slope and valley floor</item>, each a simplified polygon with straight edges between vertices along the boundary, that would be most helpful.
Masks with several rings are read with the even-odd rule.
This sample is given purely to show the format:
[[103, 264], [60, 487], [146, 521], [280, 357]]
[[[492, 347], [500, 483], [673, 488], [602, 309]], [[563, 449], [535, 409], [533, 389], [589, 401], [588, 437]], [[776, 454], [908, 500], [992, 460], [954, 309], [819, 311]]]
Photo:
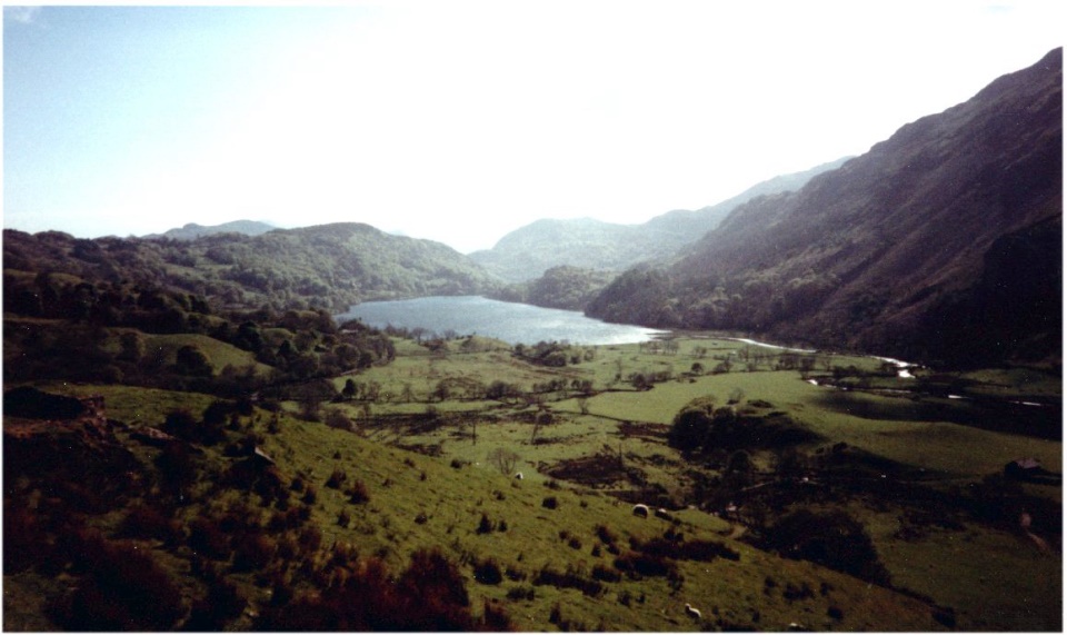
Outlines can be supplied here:
[[[168, 346], [179, 343], [201, 346], [217, 368], [226, 356], [238, 359], [243, 354], [200, 340], [167, 338], [160, 341]], [[697, 357], [697, 346], [708, 348], [706, 357]], [[547, 474], [561, 460], [621, 454], [622, 464], [639, 472], [648, 486], [660, 486], [669, 497], [684, 500], [690, 484], [687, 475], [690, 466], [684, 457], [667, 447], [661, 437], [627, 436], [620, 426], [625, 426], [624, 421], [648, 423], [661, 426], [658, 428], [661, 430], [686, 404], [708, 395], [720, 405], [731, 396], [740, 397], [738, 406], [742, 409], [751, 407], [752, 401], [767, 401], [770, 406], [764, 405], [759, 411], [788, 414], [821, 436], [821, 440], [801, 447], [804, 452], [814, 453], [820, 447], [846, 443], [910, 468], [928, 470], [934, 487], [965, 485], [999, 474], [1005, 463], [1018, 456], [1038, 456], [1049, 469], [1061, 469], [1058, 441], [940, 420], [909, 420], [900, 414], [919, 410], [909, 409], [911, 403], [896, 396], [855, 394], [856, 399], [865, 404], [862, 413], [848, 411], [837, 407], [839, 404], [831, 407], [834, 404], [828, 403], [826, 396], [835, 389], [812, 386], [796, 370], [774, 371], [764, 365], [748, 371], [744, 366], [735, 366], [730, 373], [684, 375], [696, 359], [711, 367], [717, 357], [722, 358], [739, 347], [738, 343], [707, 338], [684, 339], [679, 353], [671, 356], [641, 351], [637, 345], [600, 347], [590, 361], [549, 369], [518, 361], [499, 349], [440, 356], [413, 343], [398, 340], [398, 358], [392, 364], [351, 376], [359, 383], [380, 384], [382, 399], [367, 405], [355, 401], [325, 405], [326, 409], [348, 414], [359, 425], [359, 434], [302, 421], [290, 414], [280, 416], [278, 429], [271, 434], [267, 428], [273, 415], [266, 411], [257, 411], [251, 431], [263, 436], [262, 446], [277, 462], [286, 483], [299, 475], [317, 487], [312, 519], [323, 533], [326, 547], [350, 544], [361, 556], [383, 558], [392, 570], [402, 569], [410, 554], [420, 547], [440, 547], [463, 570], [475, 613], [481, 612], [485, 601], [499, 603], [520, 631], [556, 629], [557, 625], [549, 623], [549, 615], [557, 605], [571, 627], [589, 629], [754, 627], [781, 631], [792, 622], [820, 631], [940, 629], [928, 603], [809, 563], [760, 552], [731, 537], [741, 528], [722, 518], [697, 509], [675, 512], [675, 526], [660, 518], [638, 518], [631, 514], [629, 504], [607, 494], [615, 489], [636, 489], [634, 484], [615, 483], [597, 489], [557, 482]], [[864, 365], [871, 369], [879, 366], [877, 361], [845, 357], [832, 358], [820, 366], [830, 364]], [[620, 368], [624, 377], [631, 371], [669, 370], [676, 378], [657, 384], [650, 390], [637, 391], [625, 380], [616, 380]], [[574, 393], [545, 394], [540, 396], [540, 407], [519, 399], [507, 403], [429, 400], [442, 380], [463, 379], [488, 385], [499, 379], [528, 390], [535, 383], [557, 377], [568, 383], [590, 379], [597, 390], [612, 389], [588, 399]], [[346, 379], [335, 379], [338, 389]], [[1000, 374], [986, 379], [1003, 384]], [[1026, 383], [1018, 389], [1029, 390], [1033, 384]], [[400, 399], [406, 385], [410, 386], [416, 400]], [[213, 400], [207, 395], [121, 386], [53, 384], [47, 388], [70, 395], [103, 395], [109, 417], [134, 427], [158, 425], [167, 413], [177, 408], [199, 415]], [[295, 404], [287, 407], [289, 411], [298, 410]], [[584, 408], [588, 414], [582, 414]], [[386, 418], [395, 414], [422, 414], [428, 409], [439, 413], [443, 421], [430, 433], [408, 434], [403, 426], [395, 426]], [[538, 427], [535, 437], [531, 417], [538, 411], [550, 414], [554, 423]], [[872, 417], [871, 413], [891, 413], [894, 417]], [[476, 424], [477, 439], [471, 436]], [[532, 443], [535, 438], [541, 443]], [[436, 445], [442, 455], [425, 456], [396, 447], [395, 443]], [[491, 462], [492, 453], [498, 449], [518, 455], [513, 469], [523, 472], [525, 479], [515, 479], [510, 470], [501, 474]], [[150, 459], [157, 452], [139, 448], [138, 455]], [[761, 469], [770, 465], [767, 456], [756, 458]], [[206, 453], [205, 460], [223, 470], [231, 459], [216, 448]], [[347, 474], [348, 484], [362, 483], [369, 502], [352, 504], [342, 492], [326, 487], [335, 469]], [[182, 512], [186, 520], [210, 517], [212, 510], [225, 509], [239, 500], [255, 505], [255, 497], [236, 490], [216, 492], [203, 498], [209, 490], [215, 492], [211, 487], [209, 483], [201, 484], [201, 498]], [[1057, 502], [1061, 496], [1058, 487], [1031, 488], [1031, 493]], [[544, 506], [549, 497], [557, 502], [555, 509]], [[1036, 552], [1031, 543], [1018, 535], [975, 523], [968, 523], [961, 532], [934, 529], [923, 537], [903, 540], [895, 534], [899, 527], [897, 518], [906, 512], [904, 504], [868, 503], [854, 499], [845, 505], [868, 528], [897, 587], [953, 607], [958, 626], [965, 629], [1041, 629], [1051, 624], [1048, 621], [1060, 607], [1058, 558]], [[341, 512], [351, 516], [348, 527], [338, 524]], [[266, 518], [270, 512], [262, 509], [261, 514]], [[477, 530], [482, 515], [495, 530]], [[425, 522], [419, 522], [421, 518]], [[113, 519], [107, 522], [113, 523]], [[505, 530], [499, 530], [501, 523], [507, 526]], [[595, 566], [611, 568], [614, 556], [604, 550], [602, 545], [600, 554], [594, 555], [598, 544], [595, 529], [600, 524], [618, 535], [624, 550], [630, 537], [649, 539], [674, 527], [689, 540], [722, 542], [738, 552], [740, 559], [678, 562], [684, 578], [680, 589], [672, 589], [661, 577], [605, 583], [598, 597], [585, 596], [576, 589], [532, 584], [546, 566], [559, 572], [570, 567], [586, 578]], [[476, 582], [473, 565], [487, 558], [496, 560], [502, 569], [509, 568], [520, 579], [506, 577], [499, 585]], [[176, 570], [187, 566], [183, 562], [176, 558]], [[1028, 575], [1018, 575], [1019, 572]], [[249, 597], [263, 597], [253, 574], [231, 577]], [[1047, 584], [1049, 579], [1055, 584]], [[32, 581], [21, 581], [12, 593], [18, 595], [19, 589], [32, 584]], [[807, 585], [811, 596], [789, 599], [784, 589], [790, 585], [794, 588]], [[310, 591], [309, 586], [301, 588]], [[532, 599], [526, 597], [529, 589], [532, 589]], [[522, 598], [508, 597], [509, 592], [519, 591], [523, 592]], [[253, 609], [255, 603], [261, 601], [253, 601]], [[686, 602], [704, 612], [704, 624], [685, 615]], [[236, 627], [250, 625], [241, 619]]]

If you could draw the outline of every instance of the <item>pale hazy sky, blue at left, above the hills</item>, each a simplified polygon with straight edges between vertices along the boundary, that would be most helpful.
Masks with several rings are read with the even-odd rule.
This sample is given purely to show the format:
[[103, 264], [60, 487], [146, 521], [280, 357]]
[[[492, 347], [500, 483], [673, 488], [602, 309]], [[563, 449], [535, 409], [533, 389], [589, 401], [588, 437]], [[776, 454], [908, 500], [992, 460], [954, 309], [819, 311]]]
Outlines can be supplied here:
[[489, 248], [859, 155], [1063, 46], [1063, 0], [6, 7], [3, 221]]

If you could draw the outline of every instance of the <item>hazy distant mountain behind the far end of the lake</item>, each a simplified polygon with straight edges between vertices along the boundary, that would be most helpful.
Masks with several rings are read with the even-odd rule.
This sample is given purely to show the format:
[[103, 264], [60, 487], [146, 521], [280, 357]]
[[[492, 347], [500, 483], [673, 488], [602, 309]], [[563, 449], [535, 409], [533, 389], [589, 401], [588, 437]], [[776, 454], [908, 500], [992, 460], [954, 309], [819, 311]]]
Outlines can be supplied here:
[[469, 256], [512, 282], [537, 278], [564, 265], [621, 271], [637, 262], [669, 258], [684, 245], [715, 229], [738, 205], [757, 196], [797, 189], [815, 175], [844, 162], [839, 159], [804, 172], [775, 177], [718, 205], [669, 211], [641, 225], [592, 218], [537, 220], [508, 234], [492, 249]]

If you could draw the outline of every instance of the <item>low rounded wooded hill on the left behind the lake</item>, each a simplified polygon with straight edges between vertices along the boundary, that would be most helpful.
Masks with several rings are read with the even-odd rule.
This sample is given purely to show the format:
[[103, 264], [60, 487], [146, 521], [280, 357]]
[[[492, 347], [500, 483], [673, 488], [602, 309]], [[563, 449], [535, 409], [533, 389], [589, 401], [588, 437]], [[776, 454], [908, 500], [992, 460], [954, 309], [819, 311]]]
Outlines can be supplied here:
[[3, 238], [6, 272], [131, 280], [203, 296], [219, 307], [343, 310], [368, 299], [482, 294], [500, 285], [446, 245], [356, 222], [180, 241], [16, 230]]

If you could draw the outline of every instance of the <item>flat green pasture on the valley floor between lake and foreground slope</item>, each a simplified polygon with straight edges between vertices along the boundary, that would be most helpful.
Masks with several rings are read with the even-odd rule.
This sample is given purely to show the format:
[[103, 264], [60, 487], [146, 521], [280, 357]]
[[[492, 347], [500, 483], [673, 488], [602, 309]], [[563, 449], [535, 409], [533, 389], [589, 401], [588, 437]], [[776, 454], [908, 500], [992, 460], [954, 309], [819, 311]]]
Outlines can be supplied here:
[[[508, 450], [518, 456], [516, 469], [523, 472], [526, 484], [552, 482], [547, 473], [568, 459], [621, 455], [621, 465], [637, 468], [647, 483], [659, 485], [675, 499], [682, 499], [688, 482], [682, 475], [686, 463], [681, 455], [667, 447], [662, 438], [626, 434], [620, 425], [667, 426], [690, 400], [710, 396], [721, 405], [739, 398], [741, 407], [764, 401], [820, 437], [819, 441], [806, 446], [807, 452], [844, 443], [896, 464], [911, 476], [921, 475], [924, 484], [937, 490], [946, 492], [997, 475], [1006, 463], [1019, 457], [1038, 457], [1047, 469], [1056, 473], [1063, 469], [1060, 441], [950, 420], [930, 420], [926, 415], [928, 409], [919, 406], [934, 397], [872, 390], [851, 391], [847, 400], [841, 400], [839, 389], [806, 380], [812, 374], [829, 375], [834, 366], [877, 371], [882, 365], [879, 360], [822, 356], [808, 374], [775, 369], [771, 361], [755, 368], [735, 364], [728, 373], [695, 374], [695, 363], [710, 368], [717, 360], [736, 358], [746, 345], [708, 338], [682, 339], [679, 344], [672, 355], [652, 353], [638, 345], [597, 348], [592, 360], [568, 366], [564, 375], [568, 380], [590, 379], [597, 390], [591, 396], [560, 390], [544, 395], [534, 405], [511, 407], [509, 404], [503, 409], [498, 401], [477, 399], [375, 404], [377, 414], [418, 413], [420, 408], [426, 411], [432, 407], [448, 415], [447, 424], [430, 433], [398, 435], [368, 421], [367, 434], [383, 443], [432, 446], [446, 459], [459, 459], [469, 463], [471, 470], [489, 474], [496, 472], [489, 457], [497, 450]], [[481, 383], [502, 378], [530, 385], [544, 381], [554, 373], [518, 363], [499, 350], [430, 357], [429, 364], [425, 353], [410, 353], [413, 355], [401, 356], [395, 364], [376, 368], [362, 378], [372, 378], [391, 394], [399, 394], [398, 387], [403, 384], [415, 386], [416, 394], [429, 394], [435, 383], [449, 377]], [[665, 371], [670, 379], [655, 384], [649, 390], [635, 390], [624, 379], [631, 373]], [[923, 371], [918, 375], [919, 378], [910, 379], [880, 378], [870, 385], [911, 390], [921, 383]], [[1035, 391], [1046, 396], [1055, 393], [1055, 381], [1033, 373], [989, 371], [970, 374], [965, 379], [973, 383], [970, 389], [975, 394], [1010, 398]], [[1010, 386], [1015, 387], [1014, 393]], [[358, 418], [353, 406], [342, 407]], [[537, 426], [535, 430], [531, 417], [538, 411], [550, 414], [552, 423]], [[881, 413], [889, 416], [878, 417]], [[918, 418], [913, 420], [909, 416]], [[471, 436], [475, 430], [477, 438]], [[755, 455], [757, 466], [766, 467], [774, 460], [759, 453]], [[616, 483], [615, 486], [627, 489], [631, 484]], [[1056, 503], [1061, 499], [1059, 487], [1040, 486], [1030, 492]], [[870, 527], [895, 584], [953, 607], [958, 626], [1040, 629], [1059, 611], [1061, 567], [1058, 560], [1041, 554], [1017, 532], [968, 524], [964, 532], [933, 532], [919, 539], [901, 540], [895, 537], [900, 513], [890, 504], [880, 513], [859, 516]], [[1019, 579], [998, 593], [994, 581], [1003, 578], [1011, 567], [1034, 572], [1034, 576], [1017, 576]], [[1030, 609], [1020, 611], [1026, 606]], [[1041, 608], [1034, 609], [1034, 606]], [[986, 607], [995, 607], [996, 616], [990, 616]]]

